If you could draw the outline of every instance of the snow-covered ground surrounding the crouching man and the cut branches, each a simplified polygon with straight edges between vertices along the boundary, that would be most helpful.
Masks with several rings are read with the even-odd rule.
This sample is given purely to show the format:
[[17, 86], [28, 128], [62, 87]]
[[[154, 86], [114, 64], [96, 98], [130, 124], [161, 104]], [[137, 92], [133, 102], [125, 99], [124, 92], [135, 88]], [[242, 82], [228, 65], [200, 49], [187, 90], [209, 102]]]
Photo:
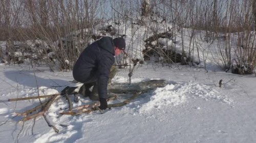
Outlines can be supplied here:
[[[47, 117], [18, 122], [22, 112], [38, 100], [8, 102], [10, 98], [60, 92], [75, 86], [72, 72], [50, 72], [47, 67], [0, 65], [1, 142], [256, 142], [255, 75], [237, 75], [217, 69], [139, 65], [132, 83], [166, 79], [168, 84], [140, 95], [122, 107], [79, 116], [60, 116], [68, 107], [64, 99], [52, 104]], [[114, 78], [126, 82], [127, 70]], [[219, 80], [224, 83], [219, 87]], [[77, 84], [81, 85], [81, 84]], [[89, 101], [80, 98], [74, 106]]]

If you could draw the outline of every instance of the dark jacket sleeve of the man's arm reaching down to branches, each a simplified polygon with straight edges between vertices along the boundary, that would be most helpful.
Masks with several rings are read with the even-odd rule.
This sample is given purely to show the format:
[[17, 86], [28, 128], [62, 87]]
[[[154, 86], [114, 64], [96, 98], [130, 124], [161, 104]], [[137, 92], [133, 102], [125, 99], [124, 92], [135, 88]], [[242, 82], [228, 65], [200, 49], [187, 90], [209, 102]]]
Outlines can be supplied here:
[[110, 69], [114, 64], [115, 59], [111, 54], [101, 54], [101, 58], [98, 64], [99, 75], [98, 75], [98, 94], [99, 98], [106, 99], [107, 87]]

